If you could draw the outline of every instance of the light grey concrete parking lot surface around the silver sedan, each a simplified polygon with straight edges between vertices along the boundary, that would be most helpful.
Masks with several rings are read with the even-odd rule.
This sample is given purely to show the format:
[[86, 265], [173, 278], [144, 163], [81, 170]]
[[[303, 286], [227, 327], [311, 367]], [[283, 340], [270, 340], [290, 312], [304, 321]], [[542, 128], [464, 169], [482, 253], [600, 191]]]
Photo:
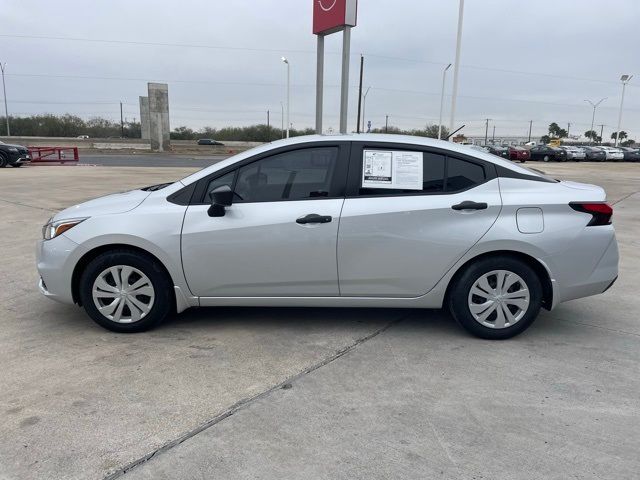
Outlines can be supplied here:
[[194, 169], [0, 170], [0, 479], [638, 478], [640, 165], [531, 166], [606, 188], [620, 278], [504, 342], [417, 310], [212, 308], [105, 331], [38, 293], [41, 225]]

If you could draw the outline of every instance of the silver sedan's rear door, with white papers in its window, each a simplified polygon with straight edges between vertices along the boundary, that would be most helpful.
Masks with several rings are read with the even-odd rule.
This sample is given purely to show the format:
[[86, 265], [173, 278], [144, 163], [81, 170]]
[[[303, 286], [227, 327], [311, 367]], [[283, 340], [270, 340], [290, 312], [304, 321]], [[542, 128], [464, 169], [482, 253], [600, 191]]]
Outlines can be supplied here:
[[[354, 142], [351, 152], [338, 232], [342, 296], [425, 294], [500, 212], [498, 179], [490, 162], [403, 144]], [[379, 161], [372, 163], [374, 158]], [[417, 161], [421, 169], [416, 169]], [[416, 184], [413, 177], [419, 170]], [[396, 175], [391, 182], [389, 171]], [[372, 178], [382, 180], [376, 184]]]

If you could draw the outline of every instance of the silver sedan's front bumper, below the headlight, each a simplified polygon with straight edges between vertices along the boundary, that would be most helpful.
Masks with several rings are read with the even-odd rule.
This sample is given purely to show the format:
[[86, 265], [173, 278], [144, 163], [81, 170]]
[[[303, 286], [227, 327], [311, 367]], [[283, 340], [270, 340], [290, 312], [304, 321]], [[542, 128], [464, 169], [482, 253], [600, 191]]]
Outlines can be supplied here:
[[40, 292], [47, 298], [73, 304], [71, 278], [82, 254], [82, 248], [64, 234], [53, 240], [38, 241], [36, 265], [40, 274]]

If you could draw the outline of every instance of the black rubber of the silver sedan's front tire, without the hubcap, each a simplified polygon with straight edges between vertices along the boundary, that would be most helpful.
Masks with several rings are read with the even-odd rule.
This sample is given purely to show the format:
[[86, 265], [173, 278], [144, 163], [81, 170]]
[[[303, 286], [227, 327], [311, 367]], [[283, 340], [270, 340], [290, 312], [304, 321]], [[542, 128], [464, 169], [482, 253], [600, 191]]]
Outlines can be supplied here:
[[[140, 320], [132, 323], [118, 323], [107, 318], [100, 313], [93, 300], [92, 289], [96, 278], [109, 267], [117, 265], [139, 270], [148, 277], [153, 286], [155, 298], [151, 309]], [[80, 277], [80, 300], [84, 309], [98, 325], [113, 332], [144, 332], [156, 327], [175, 311], [173, 295], [173, 284], [162, 265], [152, 257], [133, 250], [118, 249], [98, 255], [89, 262]]]

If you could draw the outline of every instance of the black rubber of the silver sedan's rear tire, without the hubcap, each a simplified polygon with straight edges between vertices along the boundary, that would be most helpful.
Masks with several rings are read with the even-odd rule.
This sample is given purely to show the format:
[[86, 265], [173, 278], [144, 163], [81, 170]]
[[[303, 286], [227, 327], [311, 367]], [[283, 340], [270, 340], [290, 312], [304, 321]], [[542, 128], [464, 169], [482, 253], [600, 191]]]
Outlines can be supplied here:
[[[507, 270], [521, 277], [529, 290], [529, 306], [522, 318], [513, 325], [496, 329], [482, 325], [469, 309], [469, 292], [474, 283], [486, 273]], [[454, 278], [448, 295], [452, 316], [465, 329], [480, 338], [505, 340], [524, 332], [538, 316], [542, 305], [542, 285], [536, 272], [525, 262], [510, 256], [487, 257], [470, 264]]]

